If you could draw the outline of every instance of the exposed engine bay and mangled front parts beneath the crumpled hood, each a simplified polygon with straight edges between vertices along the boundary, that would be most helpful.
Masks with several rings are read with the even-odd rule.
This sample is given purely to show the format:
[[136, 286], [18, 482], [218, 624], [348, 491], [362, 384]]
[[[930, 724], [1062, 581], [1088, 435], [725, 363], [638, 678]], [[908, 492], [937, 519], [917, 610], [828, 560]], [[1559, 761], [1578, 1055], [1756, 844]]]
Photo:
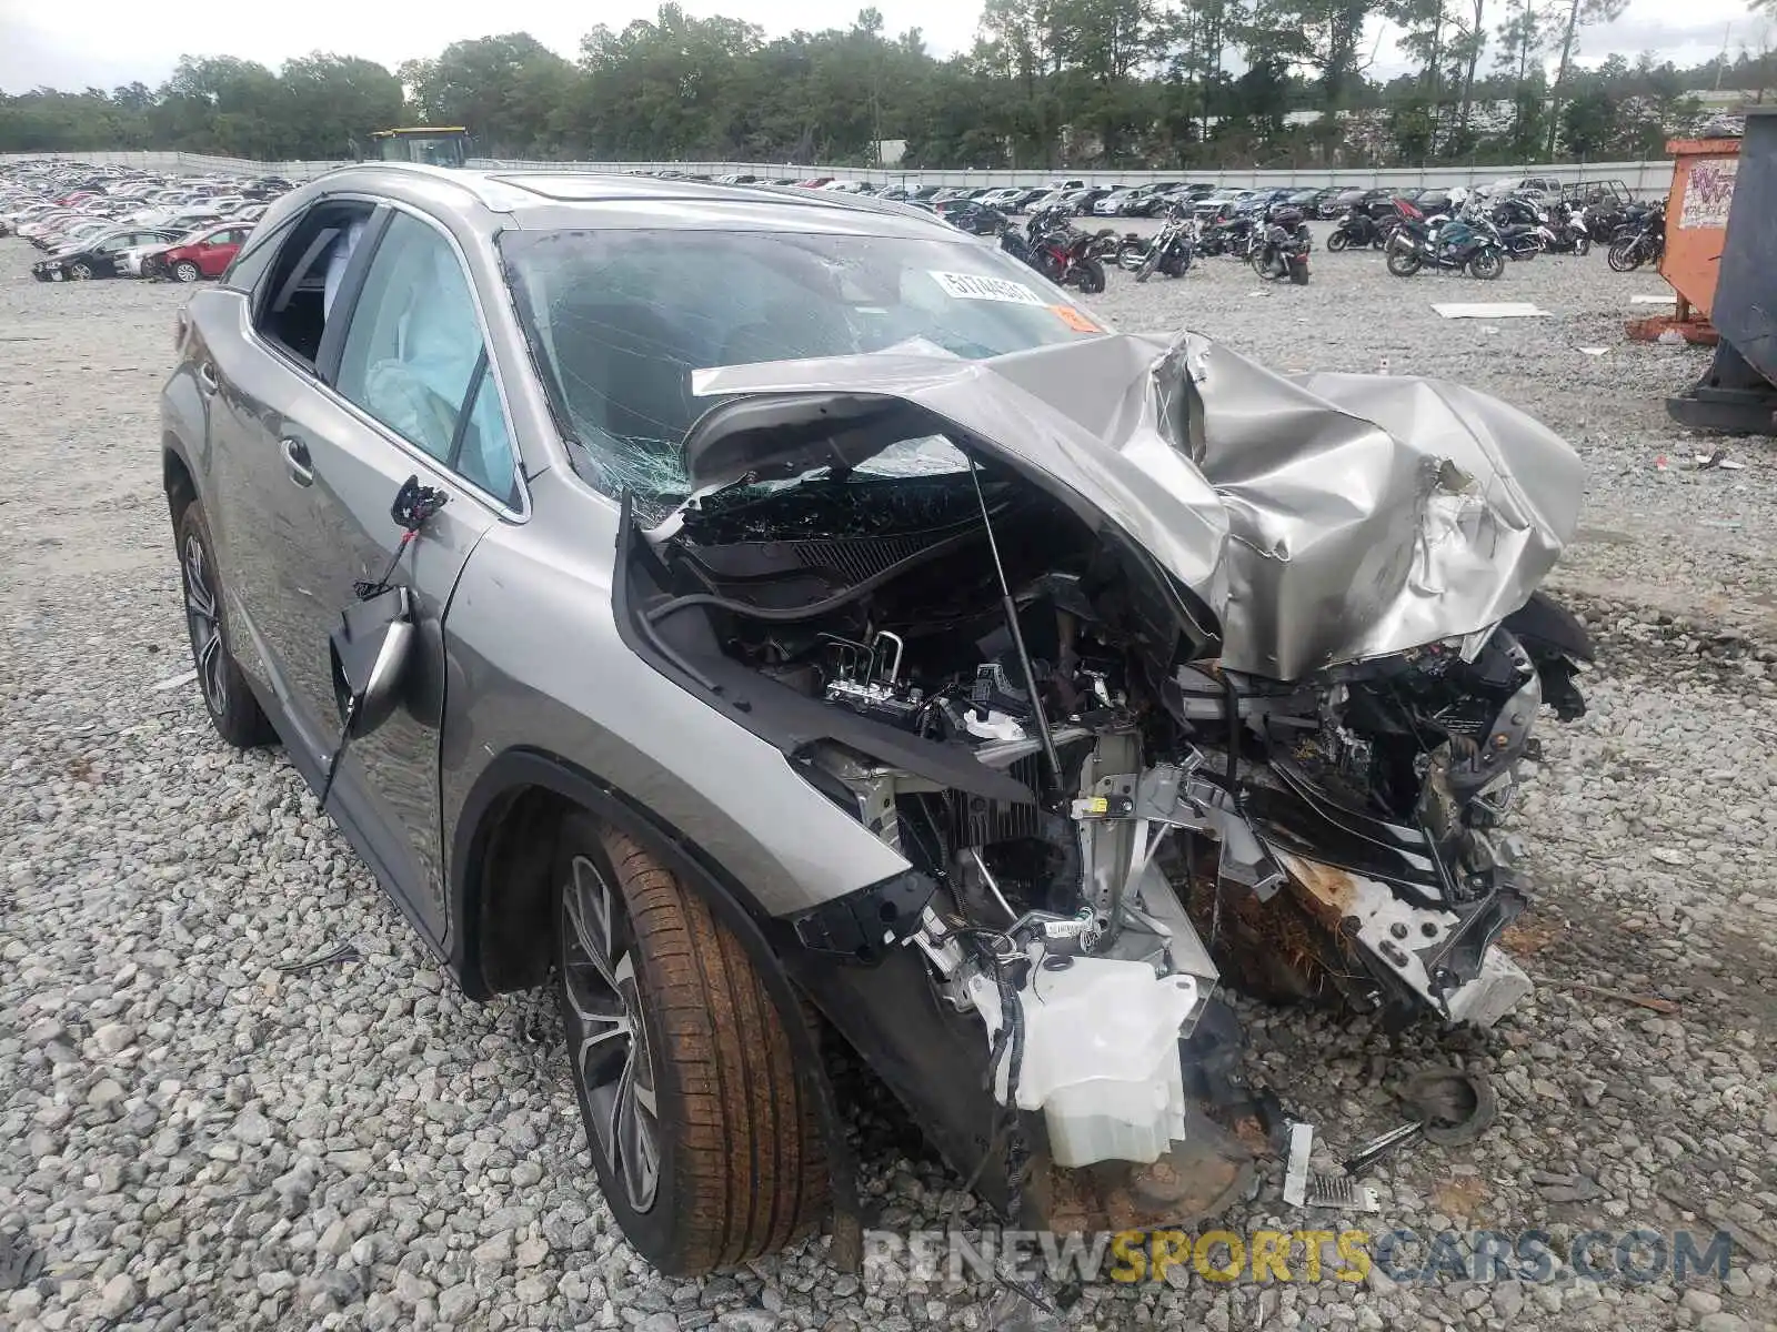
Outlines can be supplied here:
[[1494, 947], [1526, 902], [1500, 824], [1542, 707], [1583, 712], [1578, 622], [1534, 595], [1295, 678], [1235, 670], [1224, 606], [968, 432], [897, 408], [848, 449], [821, 419], [825, 458], [636, 533], [633, 643], [906, 860], [912, 899], [796, 929], [858, 963], [917, 948], [1054, 1165], [1215, 1131], [1180, 1043], [1224, 982], [1482, 1027], [1528, 993]]

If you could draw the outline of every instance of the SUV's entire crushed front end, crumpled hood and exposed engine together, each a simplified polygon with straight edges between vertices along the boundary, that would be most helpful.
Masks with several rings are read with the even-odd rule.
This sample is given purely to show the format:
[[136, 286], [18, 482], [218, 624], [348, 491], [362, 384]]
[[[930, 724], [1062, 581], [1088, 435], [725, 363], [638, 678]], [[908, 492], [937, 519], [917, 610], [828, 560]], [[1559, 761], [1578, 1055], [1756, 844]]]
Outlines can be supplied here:
[[[1223, 986], [1475, 1025], [1528, 989], [1498, 824], [1544, 702], [1583, 707], [1583, 629], [1530, 597], [1564, 446], [1528, 439], [1558, 474], [1532, 506], [1491, 400], [1423, 455], [1423, 392], [1354, 430], [1359, 389], [1125, 337], [723, 369], [697, 494], [626, 533], [631, 645], [904, 861], [784, 918], [782, 954], [1022, 1222], [1246, 1192]], [[1295, 444], [1226, 453], [1279, 403]], [[1370, 508], [1304, 497], [1327, 455]]]

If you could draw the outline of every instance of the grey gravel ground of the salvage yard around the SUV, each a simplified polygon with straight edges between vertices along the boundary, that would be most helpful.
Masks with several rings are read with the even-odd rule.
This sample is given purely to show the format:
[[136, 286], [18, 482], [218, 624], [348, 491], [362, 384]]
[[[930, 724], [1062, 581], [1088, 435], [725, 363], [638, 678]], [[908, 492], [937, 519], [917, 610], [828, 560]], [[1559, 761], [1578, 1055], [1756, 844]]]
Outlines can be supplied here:
[[[988, 1327], [1006, 1309], [992, 1288], [860, 1288], [819, 1243], [695, 1282], [634, 1259], [549, 1021], [462, 1000], [295, 773], [226, 751], [190, 686], [160, 687], [187, 670], [155, 451], [183, 293], [41, 286], [30, 258], [0, 242], [0, 1238], [44, 1268], [0, 1289], [0, 1327]], [[1088, 1288], [1066, 1321], [1777, 1327], [1777, 449], [1685, 469], [1713, 440], [1685, 439], [1660, 398], [1704, 357], [1626, 343], [1628, 297], [1663, 284], [1601, 256], [1494, 284], [1324, 252], [1310, 288], [1226, 259], [1111, 281], [1093, 304], [1123, 327], [1191, 325], [1281, 368], [1386, 357], [1466, 380], [1590, 467], [1555, 584], [1603, 664], [1592, 712], [1550, 723], [1518, 822], [1542, 897], [1512, 943], [1544, 984], [1486, 1037], [1242, 1005], [1253, 1073], [1320, 1126], [1327, 1163], [1397, 1122], [1404, 1071], [1462, 1060], [1498, 1089], [1478, 1146], [1406, 1149], [1375, 1174], [1381, 1215], [1347, 1224], [1537, 1227], [1557, 1254], [1585, 1229], [1727, 1227], [1741, 1247], [1725, 1282], [1686, 1286], [1562, 1266], [1548, 1284], [1230, 1288], [1178, 1268]], [[1555, 318], [1443, 321], [1436, 298]], [[361, 959], [277, 970], [341, 943]], [[974, 1215], [878, 1098], [857, 1099], [883, 1225]], [[1230, 1224], [1310, 1220], [1274, 1199], [1272, 1181]]]

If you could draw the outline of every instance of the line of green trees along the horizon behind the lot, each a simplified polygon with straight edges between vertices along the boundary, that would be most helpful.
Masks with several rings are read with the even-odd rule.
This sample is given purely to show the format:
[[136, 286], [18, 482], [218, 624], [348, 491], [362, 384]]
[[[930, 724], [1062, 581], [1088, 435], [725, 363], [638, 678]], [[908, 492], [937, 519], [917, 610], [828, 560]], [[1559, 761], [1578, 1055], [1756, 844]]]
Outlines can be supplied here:
[[[0, 151], [185, 149], [350, 158], [373, 130], [464, 124], [501, 158], [908, 167], [1390, 167], [1660, 156], [1695, 92], [1777, 85], [1777, 57], [1677, 69], [1589, 28], [1626, 0], [986, 0], [938, 59], [876, 9], [766, 39], [663, 4], [567, 60], [528, 34], [451, 43], [393, 73], [306, 55], [272, 71], [185, 57], [158, 89], [0, 96]], [[1777, 5], [1777, 0], [1761, 0]], [[1414, 62], [1372, 75], [1377, 18]]]

